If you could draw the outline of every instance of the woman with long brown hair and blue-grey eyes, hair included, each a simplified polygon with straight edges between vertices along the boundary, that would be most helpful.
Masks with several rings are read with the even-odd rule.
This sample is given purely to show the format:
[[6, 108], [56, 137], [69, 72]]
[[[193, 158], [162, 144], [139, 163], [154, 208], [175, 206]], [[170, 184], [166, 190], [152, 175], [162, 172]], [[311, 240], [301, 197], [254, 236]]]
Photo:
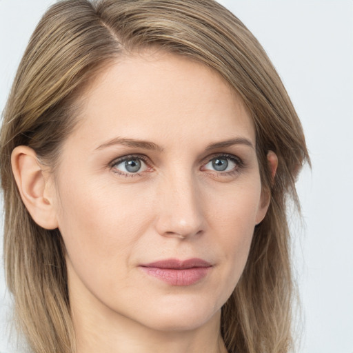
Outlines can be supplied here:
[[1, 130], [32, 352], [288, 352], [285, 204], [309, 160], [265, 52], [214, 1], [61, 1]]

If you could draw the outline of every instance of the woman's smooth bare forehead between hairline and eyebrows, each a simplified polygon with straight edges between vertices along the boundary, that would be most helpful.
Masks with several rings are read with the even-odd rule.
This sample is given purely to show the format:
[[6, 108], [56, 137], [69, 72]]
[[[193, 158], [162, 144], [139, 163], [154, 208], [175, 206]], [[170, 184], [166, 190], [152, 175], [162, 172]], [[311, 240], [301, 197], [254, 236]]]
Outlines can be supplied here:
[[255, 144], [239, 95], [219, 73], [175, 54], [143, 52], [110, 63], [85, 90], [80, 111], [71, 138], [85, 143], [121, 135], [164, 143], [246, 135]]

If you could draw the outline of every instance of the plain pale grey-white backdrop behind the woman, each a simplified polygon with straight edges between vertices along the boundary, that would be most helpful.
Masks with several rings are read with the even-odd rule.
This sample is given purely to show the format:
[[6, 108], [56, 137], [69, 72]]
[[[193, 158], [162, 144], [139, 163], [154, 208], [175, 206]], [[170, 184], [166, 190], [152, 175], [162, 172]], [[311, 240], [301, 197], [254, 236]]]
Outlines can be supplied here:
[[[0, 0], [1, 111], [30, 34], [53, 2]], [[220, 2], [268, 52], [312, 158], [312, 171], [305, 168], [297, 184], [303, 223], [292, 225], [303, 305], [299, 352], [353, 353], [353, 1]], [[8, 341], [10, 309], [1, 263], [0, 352], [6, 353], [16, 352]]]

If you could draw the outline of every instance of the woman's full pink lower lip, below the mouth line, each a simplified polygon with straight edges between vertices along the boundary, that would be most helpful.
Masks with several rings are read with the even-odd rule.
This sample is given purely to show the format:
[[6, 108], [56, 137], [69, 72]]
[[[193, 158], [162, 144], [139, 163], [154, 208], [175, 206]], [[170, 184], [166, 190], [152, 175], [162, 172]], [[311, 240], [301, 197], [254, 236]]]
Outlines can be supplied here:
[[174, 268], [149, 268], [143, 266], [140, 268], [150, 276], [154, 276], [170, 285], [192, 285], [201, 281], [211, 269], [211, 267], [203, 267], [177, 270]]

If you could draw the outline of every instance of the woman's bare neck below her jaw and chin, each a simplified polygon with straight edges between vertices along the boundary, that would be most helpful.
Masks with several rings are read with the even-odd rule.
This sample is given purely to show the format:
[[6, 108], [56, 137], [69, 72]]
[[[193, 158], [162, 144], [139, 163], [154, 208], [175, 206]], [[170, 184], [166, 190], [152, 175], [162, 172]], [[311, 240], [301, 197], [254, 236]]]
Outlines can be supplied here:
[[70, 301], [77, 353], [227, 353], [220, 311], [201, 327], [162, 331], [108, 312], [102, 303], [85, 305], [72, 296]]

